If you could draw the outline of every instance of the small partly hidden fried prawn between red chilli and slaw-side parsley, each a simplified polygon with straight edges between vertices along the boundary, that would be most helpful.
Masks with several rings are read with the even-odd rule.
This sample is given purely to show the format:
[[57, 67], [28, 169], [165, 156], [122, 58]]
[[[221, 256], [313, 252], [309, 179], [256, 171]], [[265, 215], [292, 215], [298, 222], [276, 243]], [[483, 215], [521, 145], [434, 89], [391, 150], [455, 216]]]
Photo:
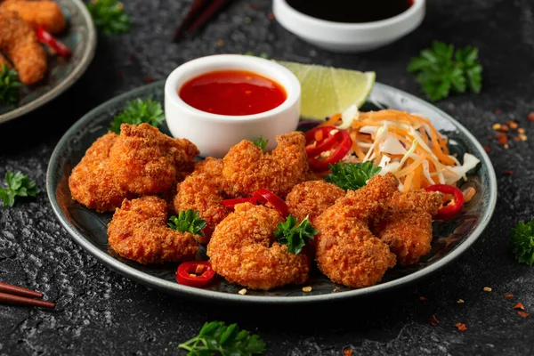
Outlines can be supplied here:
[[344, 195], [344, 190], [336, 184], [325, 181], [302, 182], [295, 185], [287, 194], [286, 204], [289, 207], [289, 214], [295, 216], [298, 221], [308, 216], [313, 224], [317, 216]]

